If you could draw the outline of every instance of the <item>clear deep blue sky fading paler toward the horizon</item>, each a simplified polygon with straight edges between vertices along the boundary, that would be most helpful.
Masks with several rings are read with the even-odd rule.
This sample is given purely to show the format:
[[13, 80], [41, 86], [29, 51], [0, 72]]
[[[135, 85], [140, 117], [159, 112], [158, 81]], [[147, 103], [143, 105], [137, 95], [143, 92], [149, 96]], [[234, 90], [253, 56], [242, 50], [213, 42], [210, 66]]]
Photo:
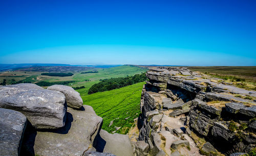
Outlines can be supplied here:
[[256, 1], [0, 1], [0, 63], [256, 65]]

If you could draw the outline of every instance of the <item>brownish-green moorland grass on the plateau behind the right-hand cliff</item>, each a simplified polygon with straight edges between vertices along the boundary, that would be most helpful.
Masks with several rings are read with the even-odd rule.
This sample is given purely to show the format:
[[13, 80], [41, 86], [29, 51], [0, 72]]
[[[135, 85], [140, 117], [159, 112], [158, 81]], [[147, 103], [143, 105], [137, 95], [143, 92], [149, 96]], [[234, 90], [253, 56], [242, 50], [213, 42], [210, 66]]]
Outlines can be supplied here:
[[256, 91], [256, 66], [188, 67], [188, 69], [223, 79], [239, 88]]

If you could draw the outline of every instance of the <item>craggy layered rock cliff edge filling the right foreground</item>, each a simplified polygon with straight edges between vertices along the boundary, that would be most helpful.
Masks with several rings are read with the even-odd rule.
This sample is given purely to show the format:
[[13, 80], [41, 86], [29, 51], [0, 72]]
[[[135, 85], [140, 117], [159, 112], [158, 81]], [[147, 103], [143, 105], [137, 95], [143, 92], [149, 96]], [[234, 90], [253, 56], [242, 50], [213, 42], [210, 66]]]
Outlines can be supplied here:
[[229, 155], [255, 147], [255, 91], [184, 67], [151, 68], [146, 76], [135, 155]]

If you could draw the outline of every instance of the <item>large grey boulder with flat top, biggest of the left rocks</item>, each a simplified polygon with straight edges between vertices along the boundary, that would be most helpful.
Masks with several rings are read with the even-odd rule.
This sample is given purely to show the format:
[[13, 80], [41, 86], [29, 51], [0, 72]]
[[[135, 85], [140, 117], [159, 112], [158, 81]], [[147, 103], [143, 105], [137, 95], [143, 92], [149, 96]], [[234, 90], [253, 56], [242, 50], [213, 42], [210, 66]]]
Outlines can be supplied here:
[[[31, 88], [32, 89], [31, 89]], [[66, 121], [66, 98], [34, 84], [0, 87], [0, 108], [23, 113], [36, 128], [59, 128]]]

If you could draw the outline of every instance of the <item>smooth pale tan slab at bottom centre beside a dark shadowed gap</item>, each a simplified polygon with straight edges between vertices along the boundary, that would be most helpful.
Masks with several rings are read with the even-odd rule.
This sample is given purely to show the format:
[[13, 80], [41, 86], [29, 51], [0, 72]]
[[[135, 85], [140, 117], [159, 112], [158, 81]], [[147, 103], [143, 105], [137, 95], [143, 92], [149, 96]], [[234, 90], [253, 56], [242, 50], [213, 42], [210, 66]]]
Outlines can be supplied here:
[[109, 152], [117, 156], [133, 156], [131, 141], [127, 135], [109, 134], [103, 129], [100, 130], [96, 149], [99, 152]]

